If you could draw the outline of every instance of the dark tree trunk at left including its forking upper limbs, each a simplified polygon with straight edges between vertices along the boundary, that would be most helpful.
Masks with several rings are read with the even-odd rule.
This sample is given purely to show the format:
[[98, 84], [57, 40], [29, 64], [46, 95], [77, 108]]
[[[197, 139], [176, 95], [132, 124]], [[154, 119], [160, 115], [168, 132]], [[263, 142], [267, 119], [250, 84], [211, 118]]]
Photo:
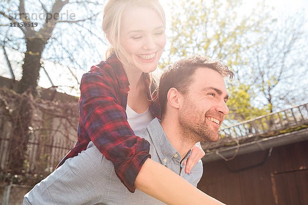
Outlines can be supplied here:
[[[68, 3], [68, 0], [56, 0], [51, 9], [51, 13], [59, 14], [63, 6]], [[20, 1], [18, 7], [20, 13], [25, 12], [24, 1]], [[58, 15], [59, 17], [59, 15]], [[23, 19], [24, 23], [31, 23], [29, 19]], [[47, 19], [40, 31], [34, 29], [22, 29], [25, 34], [27, 51], [25, 53], [23, 64], [23, 77], [17, 84], [15, 91], [17, 93], [29, 93], [34, 97], [37, 95], [37, 83], [40, 77], [41, 57], [42, 52], [47, 44], [50, 34], [52, 33], [57, 23], [57, 17], [50, 20]], [[31, 107], [28, 100], [21, 100], [16, 105], [14, 113], [15, 119], [13, 120], [13, 134], [10, 139], [10, 160], [8, 169], [20, 173], [24, 169], [25, 154], [29, 141], [29, 127], [31, 127]]]

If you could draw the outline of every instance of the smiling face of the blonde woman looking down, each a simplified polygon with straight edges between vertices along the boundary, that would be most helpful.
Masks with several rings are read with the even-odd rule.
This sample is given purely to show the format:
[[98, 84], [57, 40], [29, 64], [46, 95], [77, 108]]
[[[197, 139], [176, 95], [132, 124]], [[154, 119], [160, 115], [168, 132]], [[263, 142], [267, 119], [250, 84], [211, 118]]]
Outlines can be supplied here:
[[127, 59], [123, 53], [120, 57], [124, 63], [129, 61], [129, 69], [154, 71], [166, 44], [165, 27], [158, 13], [144, 7], [127, 9], [122, 16], [120, 44]]

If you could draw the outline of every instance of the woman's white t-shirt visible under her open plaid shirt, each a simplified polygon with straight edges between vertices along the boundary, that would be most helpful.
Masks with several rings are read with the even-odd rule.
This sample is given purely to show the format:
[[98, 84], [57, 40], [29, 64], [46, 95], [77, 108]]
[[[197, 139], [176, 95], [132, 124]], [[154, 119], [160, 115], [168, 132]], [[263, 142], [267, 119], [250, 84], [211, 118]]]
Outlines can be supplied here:
[[128, 105], [126, 106], [127, 121], [133, 132], [136, 134], [145, 128], [152, 119], [154, 119], [149, 108], [144, 113], [137, 113], [133, 111]]

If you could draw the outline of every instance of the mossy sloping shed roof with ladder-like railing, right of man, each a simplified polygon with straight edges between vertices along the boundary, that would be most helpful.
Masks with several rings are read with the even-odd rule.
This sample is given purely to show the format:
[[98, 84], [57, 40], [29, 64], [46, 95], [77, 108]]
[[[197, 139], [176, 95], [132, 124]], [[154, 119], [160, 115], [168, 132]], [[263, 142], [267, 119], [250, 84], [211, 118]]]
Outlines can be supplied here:
[[269, 113], [220, 130], [217, 142], [202, 142], [203, 161], [308, 140], [308, 104]]

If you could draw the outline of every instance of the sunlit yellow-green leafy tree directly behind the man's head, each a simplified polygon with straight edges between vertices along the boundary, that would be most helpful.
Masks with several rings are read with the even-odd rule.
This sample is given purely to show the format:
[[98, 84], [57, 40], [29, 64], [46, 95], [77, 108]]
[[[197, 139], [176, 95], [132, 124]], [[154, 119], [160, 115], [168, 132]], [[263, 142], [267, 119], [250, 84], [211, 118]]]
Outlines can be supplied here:
[[[228, 85], [230, 99], [229, 117], [239, 121], [264, 114], [267, 108], [255, 107], [251, 101], [253, 92], [240, 80], [239, 69], [247, 65], [242, 55], [255, 43], [249, 36], [260, 32], [260, 25], [267, 15], [259, 16], [255, 10], [249, 16], [240, 15], [239, 0], [190, 0], [180, 4], [170, 4], [172, 8], [171, 48], [165, 64], [193, 53], [202, 53], [211, 58], [222, 59], [232, 67], [236, 79]], [[249, 112], [247, 109], [254, 110]], [[245, 110], [245, 111], [243, 111]]]

